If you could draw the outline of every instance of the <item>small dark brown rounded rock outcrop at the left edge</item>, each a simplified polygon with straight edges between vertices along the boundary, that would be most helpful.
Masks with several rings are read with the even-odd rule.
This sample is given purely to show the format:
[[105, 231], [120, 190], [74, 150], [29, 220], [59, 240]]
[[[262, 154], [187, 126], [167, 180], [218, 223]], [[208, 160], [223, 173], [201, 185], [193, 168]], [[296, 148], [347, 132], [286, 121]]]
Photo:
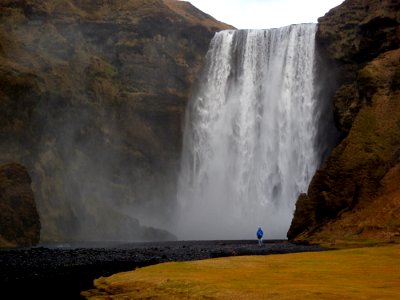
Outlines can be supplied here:
[[0, 247], [32, 246], [39, 239], [40, 220], [26, 168], [0, 166]]

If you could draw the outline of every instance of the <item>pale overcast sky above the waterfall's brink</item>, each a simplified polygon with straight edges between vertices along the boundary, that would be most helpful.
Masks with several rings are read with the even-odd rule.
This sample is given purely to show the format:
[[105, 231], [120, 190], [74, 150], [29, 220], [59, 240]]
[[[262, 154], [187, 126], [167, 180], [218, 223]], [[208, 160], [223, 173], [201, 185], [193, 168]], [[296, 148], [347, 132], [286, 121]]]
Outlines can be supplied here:
[[238, 29], [316, 23], [343, 0], [189, 0], [215, 19]]

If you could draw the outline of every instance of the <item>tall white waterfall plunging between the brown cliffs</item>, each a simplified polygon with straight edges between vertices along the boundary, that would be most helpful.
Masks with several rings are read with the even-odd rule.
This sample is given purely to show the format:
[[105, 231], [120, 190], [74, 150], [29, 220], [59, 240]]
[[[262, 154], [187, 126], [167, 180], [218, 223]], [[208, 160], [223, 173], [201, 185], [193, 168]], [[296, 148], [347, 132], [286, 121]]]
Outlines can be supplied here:
[[284, 238], [319, 163], [315, 24], [213, 38], [186, 114], [180, 239]]

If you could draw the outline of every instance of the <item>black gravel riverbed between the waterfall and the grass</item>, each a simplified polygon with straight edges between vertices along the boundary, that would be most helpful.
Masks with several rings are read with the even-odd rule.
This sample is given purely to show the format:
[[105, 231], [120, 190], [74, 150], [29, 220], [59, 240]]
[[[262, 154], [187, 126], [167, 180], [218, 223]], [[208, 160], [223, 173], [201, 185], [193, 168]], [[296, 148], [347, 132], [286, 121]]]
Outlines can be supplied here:
[[[42, 245], [0, 250], [2, 299], [82, 299], [93, 279], [168, 261], [323, 251], [287, 241], [178, 241]], [[10, 295], [10, 296], [6, 296]], [[8, 298], [7, 298], [8, 297]]]

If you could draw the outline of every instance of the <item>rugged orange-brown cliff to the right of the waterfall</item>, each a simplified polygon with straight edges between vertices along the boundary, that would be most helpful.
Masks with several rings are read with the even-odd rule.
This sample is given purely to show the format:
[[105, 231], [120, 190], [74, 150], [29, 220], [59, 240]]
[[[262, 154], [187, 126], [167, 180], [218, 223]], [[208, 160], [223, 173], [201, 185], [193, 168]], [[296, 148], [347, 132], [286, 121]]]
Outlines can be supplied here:
[[342, 140], [299, 197], [290, 239], [400, 239], [400, 3], [347, 0], [319, 19]]

